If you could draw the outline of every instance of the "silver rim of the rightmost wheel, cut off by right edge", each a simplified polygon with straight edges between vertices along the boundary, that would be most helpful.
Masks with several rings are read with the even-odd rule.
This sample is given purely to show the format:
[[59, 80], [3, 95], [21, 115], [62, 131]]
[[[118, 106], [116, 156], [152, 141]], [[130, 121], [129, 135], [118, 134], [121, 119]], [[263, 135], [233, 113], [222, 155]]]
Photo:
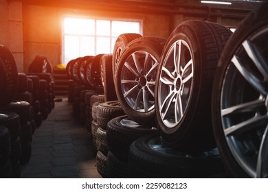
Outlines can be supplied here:
[[232, 57], [221, 89], [223, 133], [238, 165], [268, 177], [268, 28], [249, 36]]

